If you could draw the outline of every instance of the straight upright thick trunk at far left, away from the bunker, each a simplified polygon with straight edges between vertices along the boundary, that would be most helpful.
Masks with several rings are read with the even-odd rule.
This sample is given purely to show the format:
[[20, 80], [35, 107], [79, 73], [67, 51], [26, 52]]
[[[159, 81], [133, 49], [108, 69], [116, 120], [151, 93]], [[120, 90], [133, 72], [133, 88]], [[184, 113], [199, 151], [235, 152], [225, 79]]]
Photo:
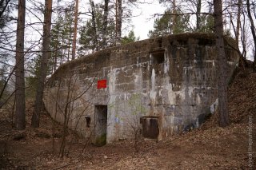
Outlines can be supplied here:
[[16, 121], [18, 130], [26, 128], [25, 119], [25, 79], [24, 79], [24, 30], [25, 30], [26, 1], [18, 1], [18, 25], [16, 41], [16, 70], [15, 70], [15, 100]]

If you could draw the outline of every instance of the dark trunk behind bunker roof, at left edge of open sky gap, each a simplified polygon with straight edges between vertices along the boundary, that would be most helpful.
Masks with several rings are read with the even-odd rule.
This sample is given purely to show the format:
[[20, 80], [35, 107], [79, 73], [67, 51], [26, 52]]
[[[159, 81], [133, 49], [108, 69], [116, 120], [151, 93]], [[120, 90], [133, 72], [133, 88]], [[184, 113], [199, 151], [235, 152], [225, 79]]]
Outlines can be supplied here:
[[116, 0], [115, 5], [116, 17], [115, 17], [115, 45], [121, 45], [122, 35], [122, 0]]

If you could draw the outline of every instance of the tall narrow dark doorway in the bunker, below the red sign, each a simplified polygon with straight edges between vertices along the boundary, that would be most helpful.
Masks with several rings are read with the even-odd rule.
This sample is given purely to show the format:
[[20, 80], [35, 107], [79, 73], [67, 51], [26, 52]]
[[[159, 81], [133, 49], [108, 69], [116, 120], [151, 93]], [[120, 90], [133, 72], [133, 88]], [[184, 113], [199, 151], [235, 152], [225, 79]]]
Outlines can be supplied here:
[[106, 144], [107, 105], [95, 105], [95, 138], [94, 144]]

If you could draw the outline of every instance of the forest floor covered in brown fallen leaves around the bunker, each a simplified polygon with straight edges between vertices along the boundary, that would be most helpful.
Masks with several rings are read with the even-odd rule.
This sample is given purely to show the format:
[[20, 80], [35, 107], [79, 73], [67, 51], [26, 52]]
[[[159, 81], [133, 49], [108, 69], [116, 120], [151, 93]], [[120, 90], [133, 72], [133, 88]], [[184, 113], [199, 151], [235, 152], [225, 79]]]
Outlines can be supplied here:
[[53, 123], [46, 113], [40, 128], [30, 128], [33, 102], [29, 101], [24, 131], [14, 130], [9, 115], [1, 111], [0, 169], [256, 169], [256, 73], [236, 74], [229, 88], [229, 110], [227, 128], [218, 127], [214, 114], [190, 132], [158, 142], [142, 140], [139, 152], [134, 151], [133, 141], [96, 147], [70, 132], [66, 155], [59, 158], [61, 126], [54, 130], [54, 142]]

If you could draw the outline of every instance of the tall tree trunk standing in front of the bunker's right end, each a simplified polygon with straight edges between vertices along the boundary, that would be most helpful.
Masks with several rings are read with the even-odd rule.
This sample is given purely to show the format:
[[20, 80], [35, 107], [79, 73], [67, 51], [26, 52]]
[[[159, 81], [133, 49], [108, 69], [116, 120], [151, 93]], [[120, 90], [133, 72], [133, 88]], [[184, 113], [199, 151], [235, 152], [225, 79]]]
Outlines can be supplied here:
[[227, 63], [223, 40], [222, 0], [214, 0], [214, 26], [218, 60], [218, 121], [225, 127], [230, 124], [227, 109]]

